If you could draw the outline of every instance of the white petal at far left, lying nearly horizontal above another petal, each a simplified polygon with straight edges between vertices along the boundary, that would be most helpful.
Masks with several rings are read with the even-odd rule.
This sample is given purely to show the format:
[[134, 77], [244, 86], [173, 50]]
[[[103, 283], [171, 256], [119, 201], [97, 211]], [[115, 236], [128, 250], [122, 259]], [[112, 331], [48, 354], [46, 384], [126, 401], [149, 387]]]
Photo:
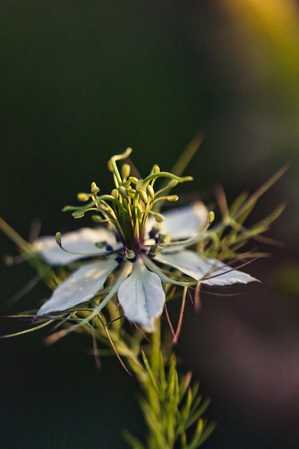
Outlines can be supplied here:
[[[62, 234], [62, 245], [67, 250], [74, 251], [74, 253], [105, 253], [105, 248], [100, 249], [95, 246], [95, 243], [100, 241], [107, 241], [114, 249], [121, 247], [121, 244], [117, 243], [113, 232], [109, 232], [104, 227], [96, 229], [82, 227], [77, 231]], [[41, 237], [34, 242], [33, 247], [50, 265], [69, 264], [74, 260], [88, 257], [88, 255], [66, 253], [58, 246], [53, 236]]]

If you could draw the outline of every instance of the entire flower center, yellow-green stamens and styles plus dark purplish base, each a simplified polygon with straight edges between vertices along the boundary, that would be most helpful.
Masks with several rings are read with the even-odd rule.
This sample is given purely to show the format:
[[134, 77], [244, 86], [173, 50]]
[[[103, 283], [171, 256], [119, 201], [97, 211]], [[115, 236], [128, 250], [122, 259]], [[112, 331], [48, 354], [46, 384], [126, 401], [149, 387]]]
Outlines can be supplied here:
[[[117, 257], [126, 257], [134, 261], [142, 251], [152, 257], [159, 251], [158, 237], [159, 223], [164, 221], [160, 209], [164, 201], [177, 201], [177, 195], [169, 195], [173, 187], [179, 182], [192, 180], [192, 177], [179, 177], [173, 173], [163, 172], [155, 164], [150, 175], [144, 179], [131, 176], [131, 166], [123, 163], [121, 170], [117, 161], [123, 161], [131, 154], [128, 148], [123, 154], [112, 156], [108, 168], [113, 173], [114, 189], [110, 194], [100, 195], [100, 188], [93, 182], [90, 193], [78, 194], [79, 201], [89, 201], [85, 206], [67, 206], [64, 210], [73, 210], [75, 218], [81, 218], [88, 211], [92, 211], [95, 222], [107, 223], [114, 230], [118, 239], [124, 244], [124, 249]], [[164, 179], [163, 179], [164, 178]], [[157, 180], [164, 181], [155, 190]], [[149, 223], [149, 220], [151, 223]], [[154, 239], [154, 244], [147, 245], [147, 239]]]

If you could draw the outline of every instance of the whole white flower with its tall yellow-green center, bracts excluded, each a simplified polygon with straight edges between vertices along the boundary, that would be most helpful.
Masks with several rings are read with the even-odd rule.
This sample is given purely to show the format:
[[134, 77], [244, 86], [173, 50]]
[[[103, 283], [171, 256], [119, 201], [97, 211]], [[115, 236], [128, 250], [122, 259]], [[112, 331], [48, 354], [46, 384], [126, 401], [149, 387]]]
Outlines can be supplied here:
[[[149, 176], [138, 180], [129, 176], [128, 164], [124, 164], [120, 174], [116, 162], [130, 153], [131, 149], [127, 149], [109, 161], [108, 167], [114, 174], [116, 185], [110, 195], [99, 196], [100, 189], [93, 182], [91, 194], [79, 194], [79, 199], [91, 199], [90, 203], [83, 208], [65, 208], [74, 210], [73, 216], [77, 218], [95, 210], [100, 215], [93, 219], [107, 223], [108, 227], [84, 227], [69, 232], [63, 238], [63, 246], [60, 233], [56, 239], [45, 236], [34, 243], [34, 250], [50, 265], [82, 262], [53, 291], [50, 299], [37, 311], [37, 316], [51, 316], [90, 302], [96, 295], [101, 295], [100, 289], [115, 272], [114, 281], [108, 289], [105, 288], [106, 296], [102, 295], [102, 301], [95, 306], [91, 316], [100, 313], [117, 293], [126, 319], [153, 331], [154, 321], [163, 311], [166, 283], [189, 287], [198, 283], [225, 286], [255, 281], [244, 272], [227, 267], [215, 258], [202, 257], [190, 249], [204, 239], [206, 229], [213, 221], [213, 213], [208, 213], [203, 203], [192, 203], [163, 215], [159, 213], [159, 202], [178, 199], [178, 196], [164, 196], [164, 193], [178, 182], [192, 178], [160, 172], [159, 167], [154, 166]], [[160, 177], [170, 181], [154, 192], [154, 182]], [[173, 269], [180, 272], [180, 276], [173, 274]]]

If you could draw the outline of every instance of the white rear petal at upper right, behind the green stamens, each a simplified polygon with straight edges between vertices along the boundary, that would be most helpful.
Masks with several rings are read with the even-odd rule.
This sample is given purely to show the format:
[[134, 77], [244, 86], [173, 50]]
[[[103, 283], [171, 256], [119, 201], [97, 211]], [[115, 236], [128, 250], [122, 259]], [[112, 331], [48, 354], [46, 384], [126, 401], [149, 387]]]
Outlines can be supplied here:
[[[172, 240], [187, 239], [198, 234], [208, 220], [208, 209], [200, 201], [162, 214], [165, 220], [160, 224], [161, 231], [171, 236]], [[150, 217], [147, 222], [148, 232], [154, 224], [154, 219]]]

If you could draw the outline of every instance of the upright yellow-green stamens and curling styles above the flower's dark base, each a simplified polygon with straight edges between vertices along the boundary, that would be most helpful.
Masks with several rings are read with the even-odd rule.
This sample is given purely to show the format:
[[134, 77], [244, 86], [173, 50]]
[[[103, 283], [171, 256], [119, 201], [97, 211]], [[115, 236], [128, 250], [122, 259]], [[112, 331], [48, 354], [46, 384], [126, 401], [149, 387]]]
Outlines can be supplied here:
[[[93, 182], [91, 184], [91, 193], [80, 193], [80, 201], [91, 198], [93, 201], [86, 206], [72, 207], [67, 206], [64, 210], [72, 210], [73, 216], [76, 218], [84, 217], [89, 211], [97, 210], [102, 218], [96, 218], [95, 221], [109, 222], [113, 225], [125, 246], [132, 250], [140, 250], [145, 239], [145, 229], [149, 215], [153, 215], [157, 222], [162, 222], [164, 216], [153, 210], [155, 204], [159, 201], [177, 201], [177, 195], [162, 196], [163, 192], [175, 187], [180, 182], [192, 180], [191, 176], [180, 177], [173, 173], [161, 171], [159, 166], [152, 167], [150, 175], [145, 179], [138, 179], [130, 176], [131, 167], [128, 163], [124, 163], [119, 170], [117, 161], [126, 159], [132, 152], [131, 148], [127, 148], [122, 154], [116, 154], [109, 159], [108, 168], [113, 173], [115, 188], [111, 194], [98, 195], [100, 188]], [[170, 181], [163, 189], [154, 191], [154, 182], [159, 178], [168, 178]], [[131, 185], [135, 185], [135, 188]]]

